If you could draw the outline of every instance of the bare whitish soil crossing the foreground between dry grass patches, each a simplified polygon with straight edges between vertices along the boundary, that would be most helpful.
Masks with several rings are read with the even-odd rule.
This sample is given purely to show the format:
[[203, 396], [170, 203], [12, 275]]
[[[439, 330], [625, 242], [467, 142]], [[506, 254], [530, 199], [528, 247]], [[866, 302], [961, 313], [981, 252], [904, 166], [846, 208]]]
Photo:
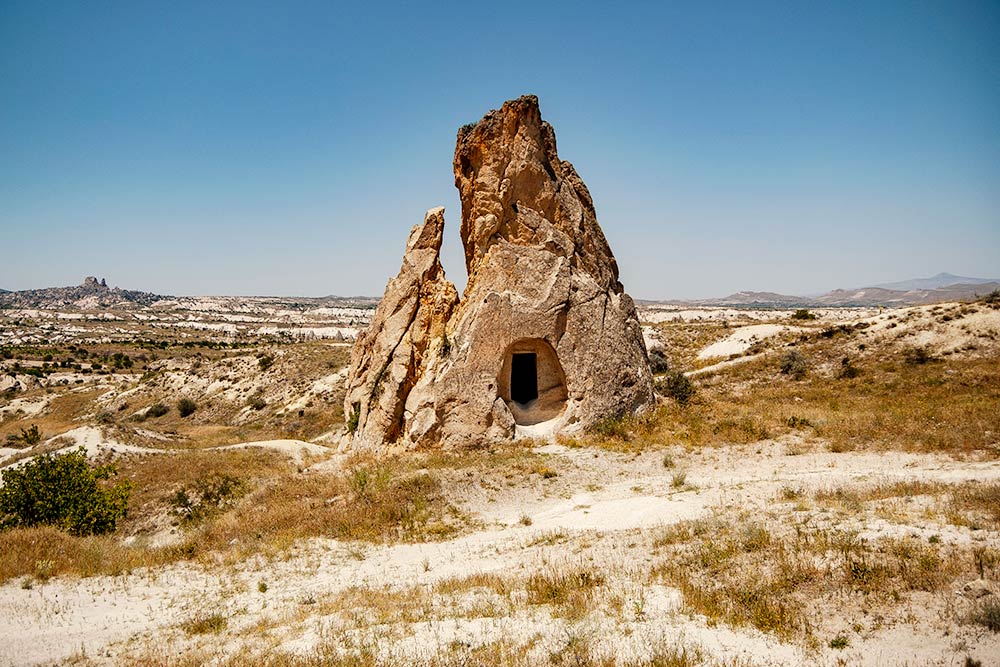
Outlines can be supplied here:
[[[712, 512], [783, 511], [774, 502], [783, 486], [808, 493], [848, 482], [1000, 480], [996, 461], [818, 450], [789, 456], [790, 446], [813, 446], [791, 440], [701, 453], [676, 448], [676, 469], [664, 468], [663, 452], [631, 455], [548, 445], [536, 452], [558, 473], [550, 480], [525, 479], [504, 487], [484, 476], [447, 484], [453, 502], [479, 529], [443, 542], [383, 546], [313, 539], [276, 560], [255, 558], [228, 567], [182, 564], [120, 577], [57, 578], [36, 582], [31, 590], [11, 581], [0, 586], [0, 618], [5, 619], [0, 624], [0, 664], [44, 664], [74, 655], [96, 664], [127, 664], [130, 656], [151, 651], [171, 655], [192, 646], [308, 653], [341, 623], [341, 615], [324, 603], [350, 587], [405, 591], [475, 573], [523, 576], [579, 563], [607, 572], [623, 595], [642, 600], [642, 613], [617, 619], [598, 614], [577, 622], [536, 608], [389, 622], [364, 632], [392, 655], [414, 659], [446, 650], [455, 641], [527, 642], [538, 634], [539, 651], [558, 651], [568, 632], [592, 633], [600, 638], [598, 648], [603, 645], [618, 655], [641, 655], [643, 646], [666, 639], [699, 646], [706, 658], [739, 657], [748, 665], [952, 665], [961, 664], [965, 655], [989, 664], [991, 656], [1000, 655], [1000, 635], [947, 616], [963, 600], [964, 581], [945, 591], [915, 595], [907, 619], [852, 636], [850, 646], [838, 651], [825, 646], [810, 650], [756, 630], [710, 624], [683, 607], [678, 591], [630, 576], [648, 566], [652, 536], [663, 526]], [[338, 460], [320, 466], [336, 466]], [[686, 473], [681, 488], [673, 482], [678, 469]], [[1000, 546], [995, 532], [940, 525], [933, 519], [899, 526], [859, 516], [847, 523], [870, 537], [903, 531], [936, 534], [946, 543]], [[265, 593], [258, 591], [259, 582], [267, 583]], [[318, 602], [315, 613], [304, 604], [312, 601]], [[207, 613], [229, 619], [221, 636], [198, 639], [179, 629], [182, 622]]]

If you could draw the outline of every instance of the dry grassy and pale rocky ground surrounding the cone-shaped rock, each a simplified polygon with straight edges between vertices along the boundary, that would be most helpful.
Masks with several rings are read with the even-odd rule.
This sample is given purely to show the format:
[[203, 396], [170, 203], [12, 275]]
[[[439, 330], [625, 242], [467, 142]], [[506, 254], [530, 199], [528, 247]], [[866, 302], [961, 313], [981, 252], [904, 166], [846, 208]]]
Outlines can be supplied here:
[[[248, 329], [188, 345], [159, 320], [54, 342], [105, 323], [22, 321], [53, 340], [2, 346], [0, 466], [83, 446], [134, 486], [110, 535], [0, 532], [0, 664], [1000, 654], [996, 304], [639, 318], [668, 361], [655, 411], [378, 457], [341, 451], [349, 343]], [[194, 515], [177, 504], [212, 489]]]

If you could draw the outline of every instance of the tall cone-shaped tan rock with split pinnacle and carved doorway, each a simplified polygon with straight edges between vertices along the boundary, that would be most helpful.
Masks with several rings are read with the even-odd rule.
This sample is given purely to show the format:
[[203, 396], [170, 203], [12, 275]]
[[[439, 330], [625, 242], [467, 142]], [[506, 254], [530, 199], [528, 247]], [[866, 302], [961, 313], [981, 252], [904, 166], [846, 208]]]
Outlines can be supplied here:
[[459, 130], [454, 168], [468, 285], [459, 301], [444, 278], [434, 209], [355, 344], [345, 400], [354, 443], [461, 447], [652, 404], [635, 305], [537, 98]]

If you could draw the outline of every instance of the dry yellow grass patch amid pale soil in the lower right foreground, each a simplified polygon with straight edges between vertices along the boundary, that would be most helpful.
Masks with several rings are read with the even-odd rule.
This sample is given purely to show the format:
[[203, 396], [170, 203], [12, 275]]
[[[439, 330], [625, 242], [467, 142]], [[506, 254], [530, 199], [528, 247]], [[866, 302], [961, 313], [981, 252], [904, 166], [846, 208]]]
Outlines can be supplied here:
[[863, 541], [845, 531], [746, 519], [682, 522], [654, 546], [666, 552], [654, 580], [678, 587], [710, 621], [802, 640], [823, 622], [810, 610], [824, 599], [847, 593], [842, 607], [897, 605], [910, 591], [941, 589], [973, 562], [954, 547], [915, 538]]

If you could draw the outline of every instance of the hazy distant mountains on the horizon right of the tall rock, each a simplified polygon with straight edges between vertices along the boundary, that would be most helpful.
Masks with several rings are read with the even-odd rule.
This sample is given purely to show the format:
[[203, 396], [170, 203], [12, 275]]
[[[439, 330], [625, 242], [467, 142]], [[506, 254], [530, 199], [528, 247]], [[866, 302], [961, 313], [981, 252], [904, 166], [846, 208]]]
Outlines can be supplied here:
[[[952, 282], [957, 281], [957, 282]], [[895, 286], [895, 287], [892, 287]], [[715, 299], [641, 301], [646, 304], [732, 306], [737, 308], [821, 308], [841, 306], [915, 306], [944, 301], [975, 299], [1000, 289], [1000, 279], [968, 278], [939, 273], [897, 283], [858, 289], [835, 289], [818, 296], [794, 296], [776, 292], [736, 292]]]

